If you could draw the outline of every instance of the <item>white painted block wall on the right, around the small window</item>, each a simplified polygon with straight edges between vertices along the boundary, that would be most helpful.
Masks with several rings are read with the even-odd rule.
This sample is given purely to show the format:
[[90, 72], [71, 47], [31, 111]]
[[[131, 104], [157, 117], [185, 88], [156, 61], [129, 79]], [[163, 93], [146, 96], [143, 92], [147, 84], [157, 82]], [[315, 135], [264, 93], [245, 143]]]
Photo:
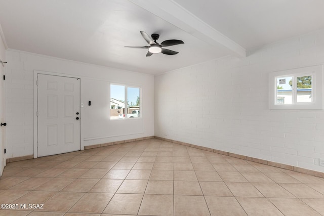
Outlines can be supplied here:
[[155, 76], [155, 136], [316, 171], [324, 111], [269, 110], [269, 73], [324, 64], [324, 30]]

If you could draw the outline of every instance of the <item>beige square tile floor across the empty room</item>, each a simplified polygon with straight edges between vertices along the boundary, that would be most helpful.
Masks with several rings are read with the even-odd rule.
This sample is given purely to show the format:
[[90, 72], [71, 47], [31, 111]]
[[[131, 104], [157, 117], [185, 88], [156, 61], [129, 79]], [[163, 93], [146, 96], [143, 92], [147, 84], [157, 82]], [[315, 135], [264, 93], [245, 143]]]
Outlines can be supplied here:
[[18, 204], [0, 215], [324, 215], [324, 179], [150, 139], [8, 163], [0, 203]]

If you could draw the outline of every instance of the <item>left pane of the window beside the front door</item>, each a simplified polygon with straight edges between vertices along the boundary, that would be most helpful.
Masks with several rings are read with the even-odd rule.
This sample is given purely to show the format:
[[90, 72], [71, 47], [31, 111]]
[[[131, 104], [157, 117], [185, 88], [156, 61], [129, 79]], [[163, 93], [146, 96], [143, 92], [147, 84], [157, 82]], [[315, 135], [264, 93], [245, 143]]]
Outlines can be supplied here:
[[110, 85], [110, 119], [125, 117], [125, 86]]

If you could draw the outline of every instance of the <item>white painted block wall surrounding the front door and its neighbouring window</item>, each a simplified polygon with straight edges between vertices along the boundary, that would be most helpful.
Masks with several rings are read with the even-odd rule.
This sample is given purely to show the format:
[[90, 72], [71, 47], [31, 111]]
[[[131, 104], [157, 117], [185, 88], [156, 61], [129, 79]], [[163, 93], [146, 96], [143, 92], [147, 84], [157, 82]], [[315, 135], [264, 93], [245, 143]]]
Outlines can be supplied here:
[[[6, 158], [34, 153], [35, 70], [80, 77], [80, 102], [85, 105], [80, 108], [81, 149], [154, 135], [154, 76], [17, 50], [7, 50], [6, 55]], [[110, 82], [141, 87], [141, 119], [109, 119]]]

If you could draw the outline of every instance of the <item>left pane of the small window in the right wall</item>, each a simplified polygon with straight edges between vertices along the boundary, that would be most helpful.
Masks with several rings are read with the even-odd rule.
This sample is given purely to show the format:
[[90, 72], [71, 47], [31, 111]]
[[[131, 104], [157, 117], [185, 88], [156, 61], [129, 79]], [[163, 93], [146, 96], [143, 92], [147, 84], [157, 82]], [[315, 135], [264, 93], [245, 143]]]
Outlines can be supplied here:
[[276, 104], [292, 104], [293, 77], [277, 77], [277, 101]]

